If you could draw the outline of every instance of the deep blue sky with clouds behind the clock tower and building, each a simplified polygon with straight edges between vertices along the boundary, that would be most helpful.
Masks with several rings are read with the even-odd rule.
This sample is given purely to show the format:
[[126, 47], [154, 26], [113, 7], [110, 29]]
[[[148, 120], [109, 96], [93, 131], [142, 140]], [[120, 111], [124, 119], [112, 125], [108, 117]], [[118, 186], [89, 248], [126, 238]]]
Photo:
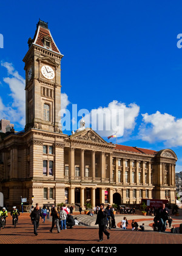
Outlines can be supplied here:
[[[72, 104], [89, 112], [124, 108], [124, 136], [118, 142], [171, 148], [182, 171], [181, 8], [181, 1], [155, 0], [2, 2], [0, 119], [10, 118], [15, 130], [24, 128], [22, 59], [41, 18], [64, 54], [61, 85], [67, 109], [71, 112]], [[105, 133], [100, 135], [107, 141]]]

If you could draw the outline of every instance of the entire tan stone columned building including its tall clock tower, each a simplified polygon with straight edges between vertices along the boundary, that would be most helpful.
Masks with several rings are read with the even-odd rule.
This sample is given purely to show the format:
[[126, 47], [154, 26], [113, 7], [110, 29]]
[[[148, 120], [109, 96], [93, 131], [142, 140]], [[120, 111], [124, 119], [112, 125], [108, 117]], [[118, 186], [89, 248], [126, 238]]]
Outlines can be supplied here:
[[107, 143], [81, 127], [62, 133], [61, 59], [47, 23], [39, 21], [24, 57], [26, 124], [21, 132], [0, 133], [0, 191], [5, 204], [51, 205], [66, 202], [84, 208], [140, 204], [142, 198], [175, 204], [177, 155]]

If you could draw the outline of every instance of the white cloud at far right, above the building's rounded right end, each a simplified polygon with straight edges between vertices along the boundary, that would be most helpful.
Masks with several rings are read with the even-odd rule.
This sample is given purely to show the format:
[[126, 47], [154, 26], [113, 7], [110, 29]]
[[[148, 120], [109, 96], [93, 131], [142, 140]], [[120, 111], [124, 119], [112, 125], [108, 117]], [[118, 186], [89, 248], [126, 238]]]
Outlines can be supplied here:
[[182, 118], [177, 119], [159, 111], [149, 115], [145, 113], [140, 126], [139, 136], [149, 143], [163, 142], [166, 147], [182, 146]]

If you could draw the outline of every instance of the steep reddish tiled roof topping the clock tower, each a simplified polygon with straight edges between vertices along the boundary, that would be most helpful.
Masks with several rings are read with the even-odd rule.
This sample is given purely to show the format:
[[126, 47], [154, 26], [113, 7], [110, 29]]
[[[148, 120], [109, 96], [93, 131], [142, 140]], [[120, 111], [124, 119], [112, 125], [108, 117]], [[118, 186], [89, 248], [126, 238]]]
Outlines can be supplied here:
[[[48, 44], [45, 43], [45, 41]], [[38, 24], [36, 24], [35, 35], [33, 39], [29, 38], [28, 44], [29, 44], [29, 48], [32, 44], [36, 44], [38, 46], [41, 46], [42, 48], [49, 49], [50, 51], [61, 54], [50, 33], [50, 30], [48, 28], [48, 23], [42, 20], [39, 20]]]

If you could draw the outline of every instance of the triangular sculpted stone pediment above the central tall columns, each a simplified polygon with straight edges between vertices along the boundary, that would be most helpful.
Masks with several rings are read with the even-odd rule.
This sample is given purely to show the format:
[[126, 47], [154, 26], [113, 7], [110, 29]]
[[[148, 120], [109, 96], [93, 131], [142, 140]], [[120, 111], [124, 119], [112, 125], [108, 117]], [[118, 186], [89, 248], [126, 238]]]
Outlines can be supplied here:
[[86, 129], [81, 132], [75, 133], [70, 138], [74, 140], [84, 140], [88, 142], [108, 145], [108, 143], [105, 140], [103, 140], [103, 138], [101, 138], [98, 135], [98, 133], [94, 132], [92, 129]]

